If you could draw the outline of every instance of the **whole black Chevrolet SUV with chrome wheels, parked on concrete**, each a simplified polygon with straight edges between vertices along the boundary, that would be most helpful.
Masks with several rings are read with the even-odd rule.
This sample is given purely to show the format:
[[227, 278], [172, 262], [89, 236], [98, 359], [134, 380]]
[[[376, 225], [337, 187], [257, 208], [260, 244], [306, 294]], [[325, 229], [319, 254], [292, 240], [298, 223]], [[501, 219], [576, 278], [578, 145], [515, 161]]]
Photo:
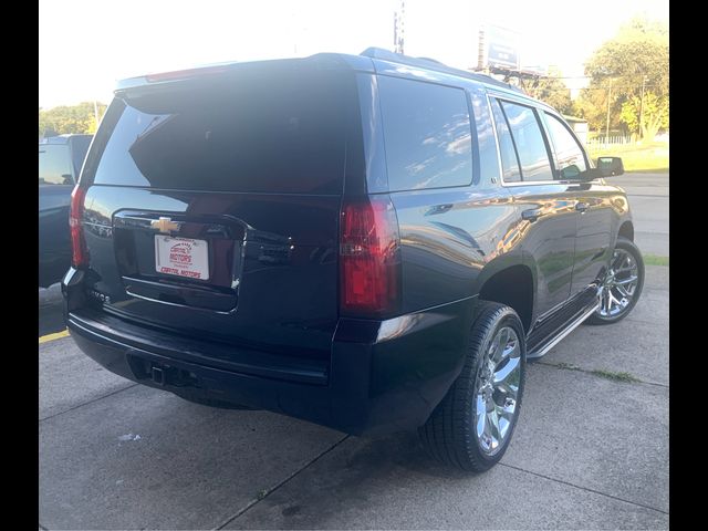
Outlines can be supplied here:
[[73, 192], [66, 323], [188, 400], [485, 470], [525, 361], [642, 291], [600, 163], [519, 90], [376, 49], [129, 79]]

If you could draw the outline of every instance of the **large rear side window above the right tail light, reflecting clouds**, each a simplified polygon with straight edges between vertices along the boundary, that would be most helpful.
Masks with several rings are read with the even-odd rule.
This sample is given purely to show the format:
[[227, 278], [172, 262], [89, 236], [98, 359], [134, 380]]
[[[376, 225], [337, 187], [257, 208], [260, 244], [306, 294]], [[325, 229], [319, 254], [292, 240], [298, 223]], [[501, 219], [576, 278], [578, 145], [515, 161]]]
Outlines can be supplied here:
[[461, 88], [378, 76], [392, 191], [469, 185], [472, 142]]

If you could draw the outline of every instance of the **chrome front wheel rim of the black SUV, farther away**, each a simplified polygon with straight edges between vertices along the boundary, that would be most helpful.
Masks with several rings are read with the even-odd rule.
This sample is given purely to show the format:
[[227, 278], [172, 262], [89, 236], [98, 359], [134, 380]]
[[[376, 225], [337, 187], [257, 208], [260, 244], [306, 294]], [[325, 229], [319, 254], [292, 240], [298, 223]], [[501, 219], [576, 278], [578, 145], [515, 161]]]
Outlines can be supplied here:
[[597, 314], [617, 317], [632, 305], [639, 282], [637, 261], [628, 251], [615, 249], [605, 280], [600, 287]]

